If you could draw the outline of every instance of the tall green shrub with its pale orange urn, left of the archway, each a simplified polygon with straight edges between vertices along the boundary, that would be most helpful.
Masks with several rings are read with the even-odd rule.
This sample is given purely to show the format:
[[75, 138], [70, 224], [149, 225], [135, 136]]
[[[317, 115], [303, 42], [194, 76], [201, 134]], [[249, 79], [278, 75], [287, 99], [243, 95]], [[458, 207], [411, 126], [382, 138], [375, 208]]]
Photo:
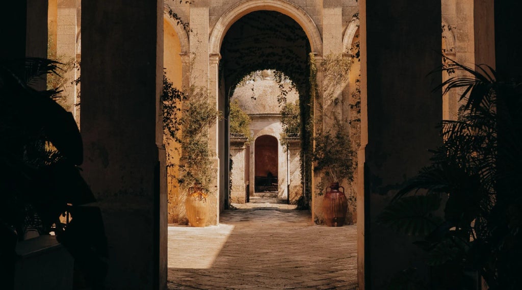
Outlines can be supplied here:
[[[186, 194], [185, 210], [191, 226], [205, 226], [208, 219], [208, 193], [212, 163], [208, 148], [208, 128], [216, 123], [219, 111], [208, 102], [205, 88], [191, 86], [183, 91], [163, 81], [163, 124], [179, 146], [177, 179]], [[182, 101], [182, 108], [179, 107]], [[181, 114], [180, 114], [181, 113]], [[181, 116], [180, 116], [181, 115]]]

